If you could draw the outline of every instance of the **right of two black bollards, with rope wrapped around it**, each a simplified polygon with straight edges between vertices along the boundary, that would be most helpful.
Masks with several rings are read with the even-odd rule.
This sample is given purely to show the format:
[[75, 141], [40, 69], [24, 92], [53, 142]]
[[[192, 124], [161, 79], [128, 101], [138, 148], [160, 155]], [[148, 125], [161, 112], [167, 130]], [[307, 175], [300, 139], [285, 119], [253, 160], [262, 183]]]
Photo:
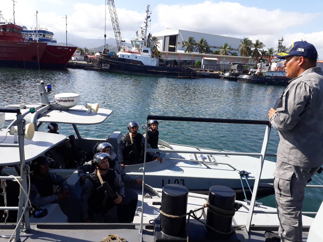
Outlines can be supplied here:
[[[209, 190], [209, 203], [215, 207], [219, 207], [225, 210], [234, 210], [235, 191], [230, 187], [225, 186], [212, 186]], [[223, 217], [219, 214], [214, 214], [211, 211], [207, 211], [206, 224], [219, 230], [221, 232], [230, 232], [232, 229], [232, 217]], [[205, 226], [205, 229], [217, 235], [220, 238], [231, 237], [232, 233], [224, 235], [217, 233], [211, 228]]]

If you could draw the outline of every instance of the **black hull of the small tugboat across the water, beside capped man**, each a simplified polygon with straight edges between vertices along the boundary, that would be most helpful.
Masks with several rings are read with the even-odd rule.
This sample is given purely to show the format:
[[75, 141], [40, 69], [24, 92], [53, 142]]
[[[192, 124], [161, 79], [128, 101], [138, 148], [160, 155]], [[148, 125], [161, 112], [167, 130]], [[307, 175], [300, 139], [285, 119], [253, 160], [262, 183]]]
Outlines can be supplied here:
[[238, 82], [256, 83], [266, 85], [287, 86], [290, 78], [281, 76], [250, 76], [240, 75], [237, 77]]

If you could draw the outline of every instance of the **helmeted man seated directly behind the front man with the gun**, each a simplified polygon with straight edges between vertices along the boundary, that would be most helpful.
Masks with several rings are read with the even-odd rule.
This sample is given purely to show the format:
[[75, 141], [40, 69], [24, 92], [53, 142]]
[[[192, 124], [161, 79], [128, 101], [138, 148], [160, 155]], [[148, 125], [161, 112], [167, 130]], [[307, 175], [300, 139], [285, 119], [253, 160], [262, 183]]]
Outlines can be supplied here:
[[[99, 152], [109, 154], [112, 158], [113, 156], [116, 156], [116, 154], [113, 152], [113, 146], [108, 142], [102, 142], [93, 147], [94, 154], [97, 154]], [[138, 184], [142, 184], [141, 179], [128, 175], [124, 172], [124, 170], [118, 163], [117, 157], [109, 162], [109, 166], [110, 169], [115, 170], [121, 176], [123, 182], [137, 182]], [[86, 172], [93, 172], [94, 170], [95, 166], [92, 164], [92, 161], [85, 162], [83, 166], [78, 166], [78, 176], [80, 176], [83, 182], [85, 182], [85, 179], [87, 178]]]

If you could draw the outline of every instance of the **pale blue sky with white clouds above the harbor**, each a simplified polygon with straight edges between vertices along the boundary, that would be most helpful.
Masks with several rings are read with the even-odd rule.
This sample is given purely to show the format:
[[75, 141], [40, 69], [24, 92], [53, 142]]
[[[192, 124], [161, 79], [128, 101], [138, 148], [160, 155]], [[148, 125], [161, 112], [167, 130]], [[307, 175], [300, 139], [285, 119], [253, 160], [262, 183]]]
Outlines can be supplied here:
[[[0, 0], [6, 20], [13, 19], [13, 2]], [[26, 0], [15, 5], [15, 20], [28, 28], [38, 24], [54, 32], [57, 41], [65, 39], [67, 15], [68, 42], [79, 38], [102, 38], [104, 35], [104, 0]], [[115, 1], [123, 36], [134, 37], [143, 26], [146, 6], [151, 5], [151, 33], [165, 28], [184, 29], [216, 35], [259, 39], [266, 48], [298, 40], [313, 43], [323, 59], [323, 1]], [[107, 10], [107, 37], [114, 37]], [[93, 46], [88, 46], [89, 48]]]

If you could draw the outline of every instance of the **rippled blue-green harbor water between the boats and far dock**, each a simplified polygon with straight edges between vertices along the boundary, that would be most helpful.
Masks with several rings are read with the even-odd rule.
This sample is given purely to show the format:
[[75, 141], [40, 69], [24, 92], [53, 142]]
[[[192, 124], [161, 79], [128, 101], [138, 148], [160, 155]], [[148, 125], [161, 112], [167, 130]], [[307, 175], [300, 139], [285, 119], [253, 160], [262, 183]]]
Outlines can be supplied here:
[[[99, 103], [112, 110], [100, 125], [80, 126], [84, 137], [108, 138], [113, 131], [126, 133], [127, 124], [146, 123], [147, 115], [189, 116], [226, 119], [268, 120], [284, 86], [257, 85], [211, 78], [180, 79], [95, 72], [80, 69], [61, 71], [0, 67], [0, 106], [39, 102], [36, 83], [52, 85], [52, 94], [80, 94], [80, 105]], [[261, 151], [266, 126], [161, 121], [160, 139], [236, 152]], [[47, 131], [47, 126], [41, 126]], [[71, 126], [59, 125], [60, 134], [70, 135]], [[140, 131], [139, 131], [140, 132]], [[276, 153], [278, 132], [271, 130], [267, 153]], [[275, 158], [266, 159], [275, 161]], [[245, 171], [248, 171], [246, 165]], [[203, 174], [201, 174], [203, 176]], [[323, 174], [313, 176], [311, 185], [321, 185]], [[307, 188], [303, 211], [317, 211], [323, 189]], [[274, 195], [260, 199], [275, 207]]]

